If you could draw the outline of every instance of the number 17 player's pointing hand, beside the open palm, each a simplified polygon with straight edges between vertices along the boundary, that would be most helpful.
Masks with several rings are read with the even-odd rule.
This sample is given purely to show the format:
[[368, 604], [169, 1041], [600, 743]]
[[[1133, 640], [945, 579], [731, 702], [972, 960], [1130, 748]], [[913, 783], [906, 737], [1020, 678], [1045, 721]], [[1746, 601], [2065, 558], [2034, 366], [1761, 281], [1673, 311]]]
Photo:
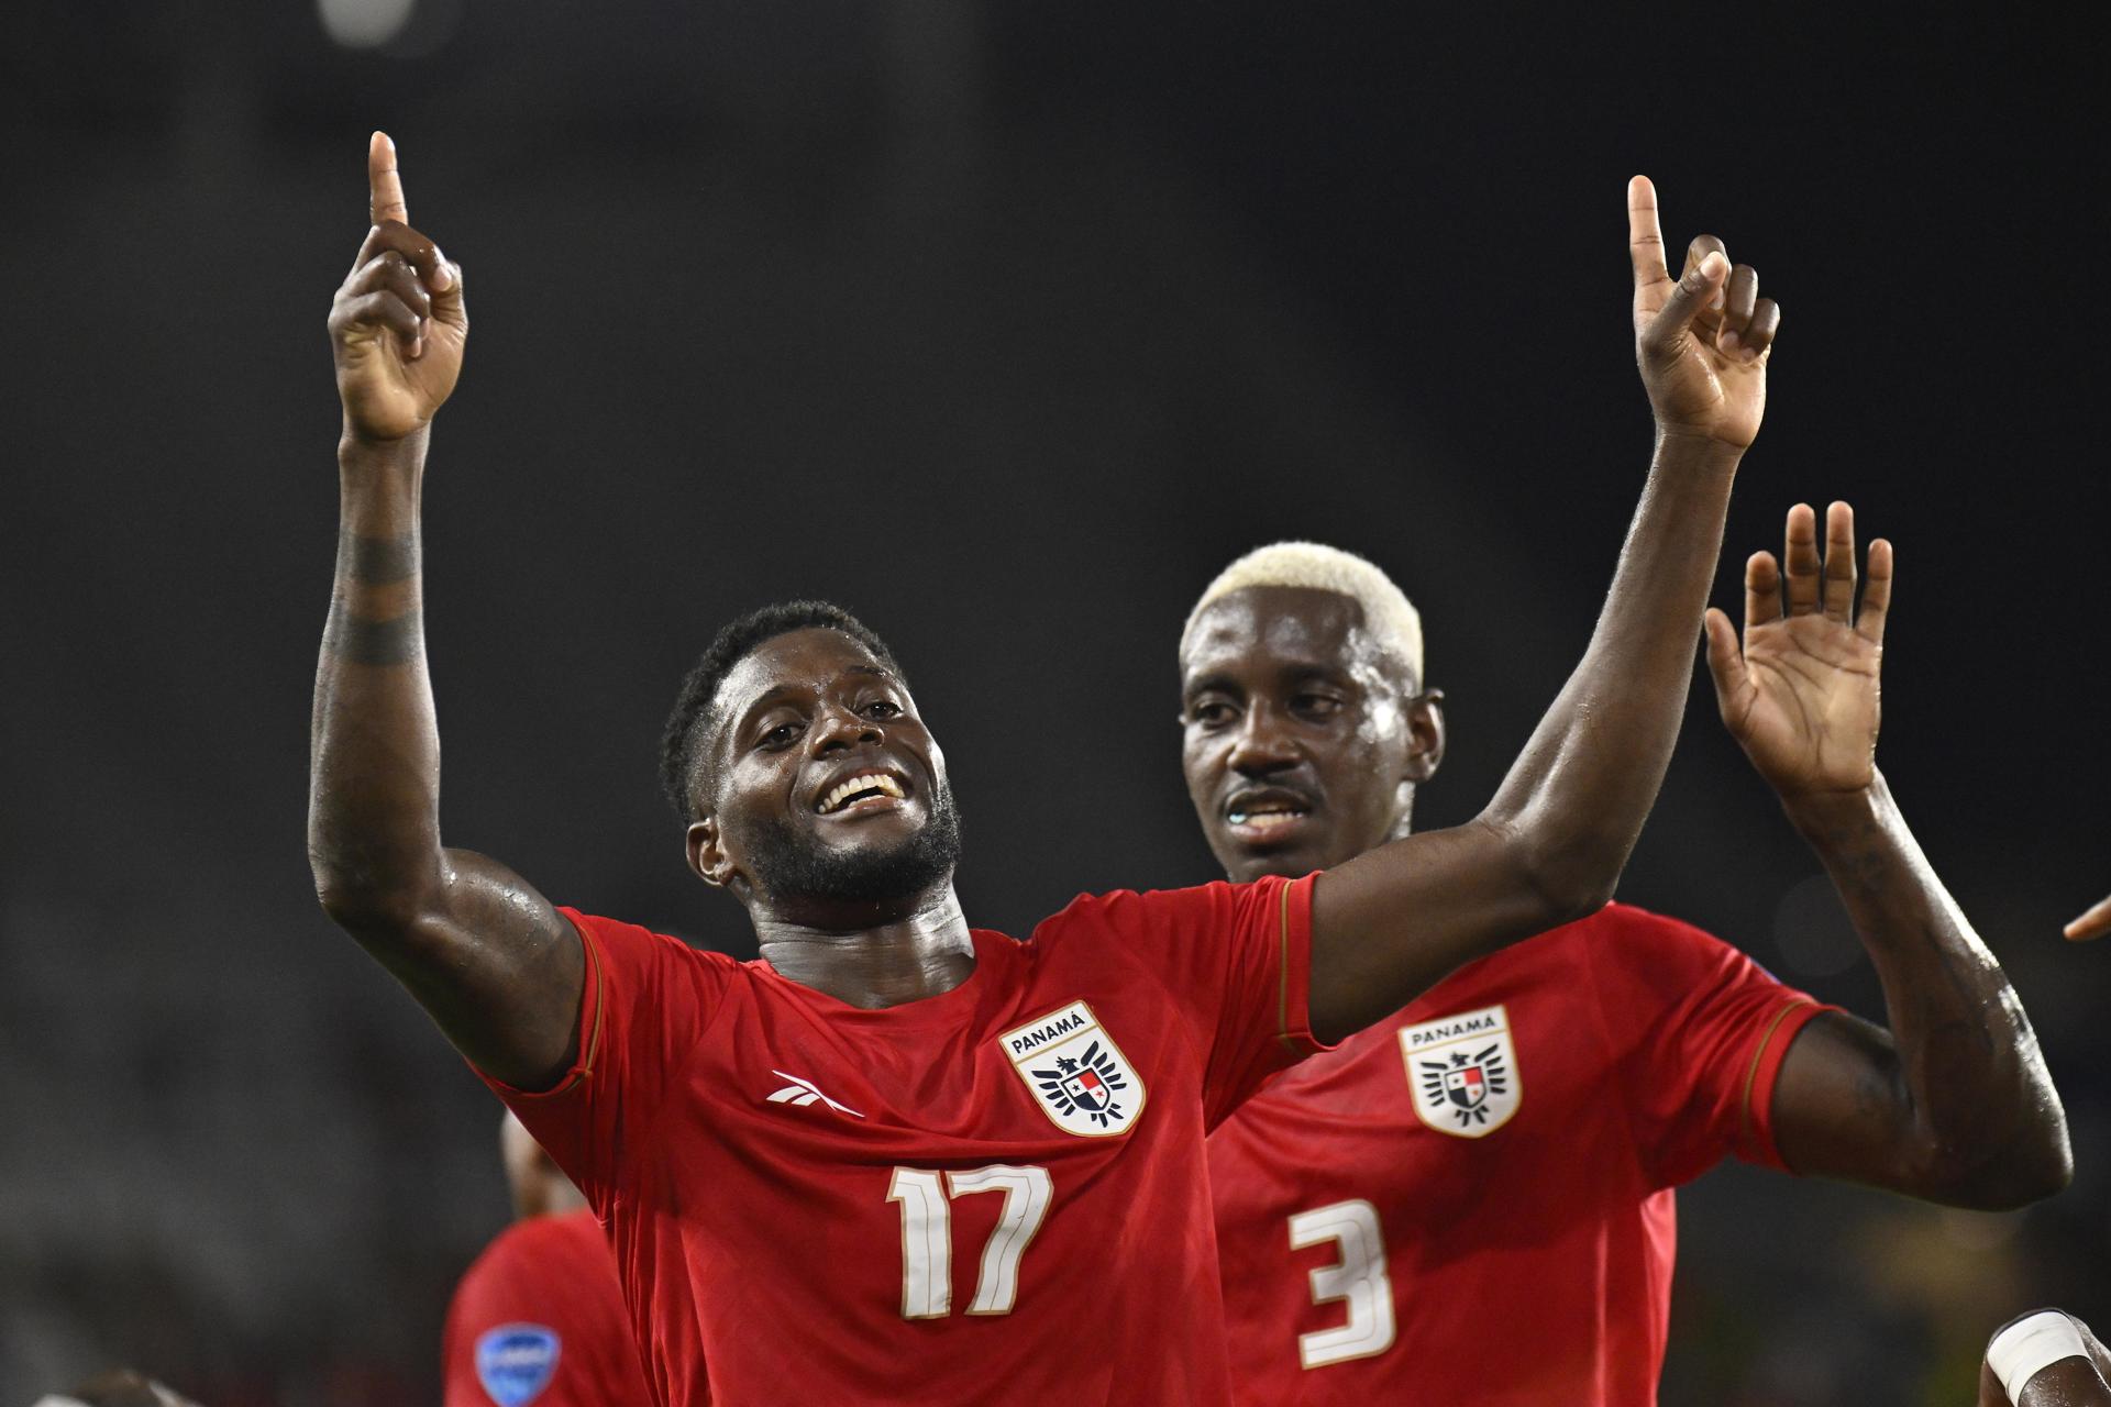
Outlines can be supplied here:
[[[1767, 411], [1767, 352], [1782, 310], [1758, 295], [1748, 264], [1731, 268], [1723, 240], [1704, 234], [1672, 278], [1657, 228], [1657, 188], [1628, 181], [1628, 255], [1634, 262], [1634, 354], [1657, 426], [1746, 447]], [[1727, 287], [1725, 287], [1727, 285]]]

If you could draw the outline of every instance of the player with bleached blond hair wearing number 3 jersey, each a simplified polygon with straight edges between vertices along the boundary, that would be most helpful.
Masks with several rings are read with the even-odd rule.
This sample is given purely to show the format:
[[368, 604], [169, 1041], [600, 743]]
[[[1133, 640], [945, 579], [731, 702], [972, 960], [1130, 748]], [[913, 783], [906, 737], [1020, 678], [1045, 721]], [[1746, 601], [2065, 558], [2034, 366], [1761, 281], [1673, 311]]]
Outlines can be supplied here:
[[[1672, 1188], [1723, 1160], [1959, 1207], [2062, 1188], [2031, 1025], [1875, 768], [1891, 548], [1856, 616], [1853, 519], [1788, 515], [1708, 612], [1729, 730], [1830, 871], [1891, 1029], [1687, 924], [1609, 905], [1446, 977], [1210, 1137], [1241, 1403], [1655, 1403]], [[1184, 768], [1233, 880], [1408, 831], [1444, 755], [1421, 622], [1359, 557], [1260, 548], [1182, 639]]]

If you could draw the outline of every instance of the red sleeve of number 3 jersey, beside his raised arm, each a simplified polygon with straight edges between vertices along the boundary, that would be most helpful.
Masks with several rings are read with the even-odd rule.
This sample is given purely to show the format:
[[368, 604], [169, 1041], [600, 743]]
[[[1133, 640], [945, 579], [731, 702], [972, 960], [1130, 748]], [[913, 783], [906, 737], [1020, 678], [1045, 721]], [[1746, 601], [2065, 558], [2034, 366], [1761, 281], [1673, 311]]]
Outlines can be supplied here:
[[1784, 1169], [1773, 1084], [1796, 1032], [1824, 1006], [1716, 937], [1615, 905], [1585, 964], [1615, 1051], [1636, 1152], [1655, 1188], [1725, 1156]]

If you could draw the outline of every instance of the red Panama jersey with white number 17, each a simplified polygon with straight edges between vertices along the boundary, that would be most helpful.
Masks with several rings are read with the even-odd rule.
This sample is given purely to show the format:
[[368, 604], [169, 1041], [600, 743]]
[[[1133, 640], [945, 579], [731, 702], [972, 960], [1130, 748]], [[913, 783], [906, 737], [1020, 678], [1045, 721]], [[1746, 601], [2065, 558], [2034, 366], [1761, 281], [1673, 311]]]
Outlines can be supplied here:
[[568, 915], [578, 1067], [494, 1088], [608, 1223], [654, 1401], [1229, 1401], [1203, 1133], [1317, 1048], [1311, 880], [1085, 897], [885, 1010]]

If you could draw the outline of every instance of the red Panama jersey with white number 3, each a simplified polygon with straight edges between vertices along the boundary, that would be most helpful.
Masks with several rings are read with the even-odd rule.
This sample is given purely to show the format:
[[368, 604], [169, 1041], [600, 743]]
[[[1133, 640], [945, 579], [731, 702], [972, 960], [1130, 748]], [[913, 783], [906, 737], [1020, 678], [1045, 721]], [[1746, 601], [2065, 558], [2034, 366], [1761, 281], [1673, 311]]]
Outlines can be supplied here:
[[1672, 1188], [1782, 1167], [1818, 1010], [1611, 905], [1286, 1074], [1210, 1137], [1237, 1401], [1655, 1403]]

